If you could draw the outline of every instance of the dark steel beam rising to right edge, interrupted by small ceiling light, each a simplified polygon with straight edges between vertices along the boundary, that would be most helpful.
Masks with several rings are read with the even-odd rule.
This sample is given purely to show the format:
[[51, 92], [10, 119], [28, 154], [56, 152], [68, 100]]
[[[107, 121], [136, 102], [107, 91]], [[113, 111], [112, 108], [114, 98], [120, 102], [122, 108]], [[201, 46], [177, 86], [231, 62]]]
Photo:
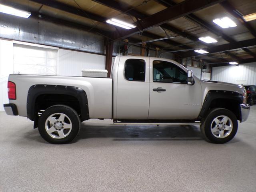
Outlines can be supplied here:
[[[239, 41], [239, 42], [234, 42], [234, 43], [229, 43], [229, 44], [223, 44], [223, 45], [218, 45], [214, 47], [208, 47], [204, 48], [209, 53], [216, 53], [216, 52], [224, 52], [224, 51], [229, 51], [229, 50], [234, 50], [234, 49], [241, 49], [244, 47], [250, 47], [250, 46], [255, 46], [256, 45], [256, 39], [249, 39], [249, 40], [244, 40], [244, 41]], [[182, 57], [194, 57], [194, 56], [200, 56], [202, 54], [196, 53], [194, 51], [188, 51], [184, 54], [182, 54]]]

